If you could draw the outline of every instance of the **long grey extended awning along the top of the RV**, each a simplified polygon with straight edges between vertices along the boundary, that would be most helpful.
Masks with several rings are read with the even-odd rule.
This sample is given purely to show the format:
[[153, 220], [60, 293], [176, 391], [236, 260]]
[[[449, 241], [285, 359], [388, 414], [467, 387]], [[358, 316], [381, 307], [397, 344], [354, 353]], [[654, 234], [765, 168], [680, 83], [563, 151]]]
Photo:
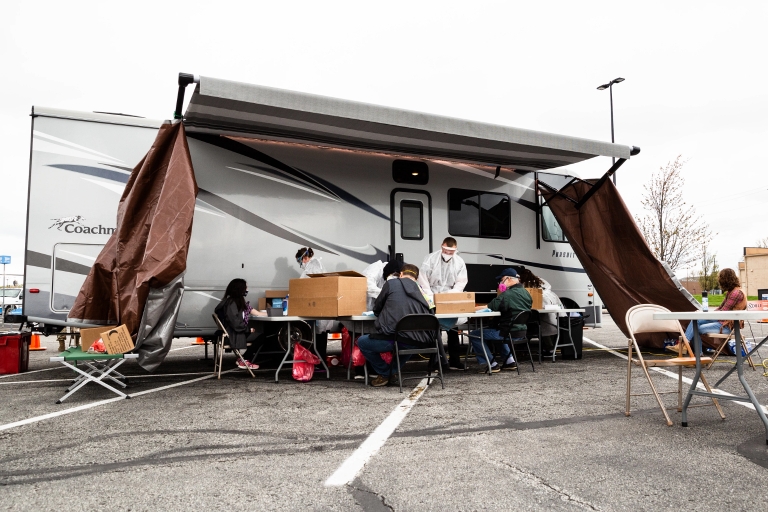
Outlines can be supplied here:
[[184, 113], [189, 132], [542, 171], [631, 148], [565, 135], [424, 114], [260, 85], [200, 77]]

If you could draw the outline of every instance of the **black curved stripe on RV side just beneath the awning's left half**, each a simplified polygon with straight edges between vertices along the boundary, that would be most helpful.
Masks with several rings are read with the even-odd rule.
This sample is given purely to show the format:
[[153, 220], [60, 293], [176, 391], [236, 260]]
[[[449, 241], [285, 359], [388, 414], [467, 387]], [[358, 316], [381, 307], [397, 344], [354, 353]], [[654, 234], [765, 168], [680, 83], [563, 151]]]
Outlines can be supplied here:
[[[380, 217], [386, 221], [389, 221], [389, 217], [387, 215], [384, 215], [383, 213], [376, 210], [369, 204], [366, 204], [364, 201], [361, 201], [359, 198], [353, 196], [346, 190], [339, 188], [333, 183], [329, 183], [322, 178], [314, 176], [311, 173], [302, 171], [301, 169], [298, 169], [296, 167], [291, 167], [290, 165], [283, 163], [280, 160], [277, 160], [276, 158], [273, 158], [267, 155], [266, 153], [262, 153], [258, 149], [252, 148], [247, 144], [243, 144], [241, 142], [229, 139], [227, 137], [219, 137], [218, 135], [207, 135], [207, 134], [201, 134], [201, 133], [187, 133], [187, 137], [191, 139], [197, 139], [201, 142], [205, 142], [207, 144], [211, 144], [213, 146], [226, 149], [227, 151], [232, 151], [233, 153], [237, 153], [238, 155], [246, 156], [248, 158], [256, 160], [257, 162], [267, 164], [277, 169], [278, 171], [281, 171], [283, 177], [285, 177], [285, 175], [288, 175], [288, 177], [292, 178], [294, 181], [300, 182], [305, 186], [310, 186], [326, 194], [338, 197], [339, 199], [344, 200], [349, 204], [360, 208], [361, 210], [364, 210], [372, 215]], [[243, 165], [249, 165], [251, 167], [264, 170], [263, 167], [256, 167], [250, 164], [243, 164]]]

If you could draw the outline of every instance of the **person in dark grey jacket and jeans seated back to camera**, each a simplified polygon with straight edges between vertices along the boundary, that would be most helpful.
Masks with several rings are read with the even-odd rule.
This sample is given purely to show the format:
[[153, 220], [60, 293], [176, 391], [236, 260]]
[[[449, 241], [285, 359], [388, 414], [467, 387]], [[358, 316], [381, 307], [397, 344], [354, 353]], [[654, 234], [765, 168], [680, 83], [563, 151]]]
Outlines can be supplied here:
[[[373, 305], [377, 332], [364, 334], [357, 340], [357, 346], [377, 374], [371, 382], [373, 386], [386, 386], [390, 379], [397, 380], [397, 374], [391, 375], [397, 363], [393, 361], [392, 365], [389, 365], [381, 358], [382, 352], [394, 351], [397, 322], [405, 315], [430, 313], [429, 305], [416, 283], [418, 278], [419, 267], [405, 264], [399, 279], [390, 279], [384, 283]], [[429, 334], [426, 332], [407, 332], [404, 336], [418, 341], [429, 341]], [[401, 343], [400, 347], [411, 348], [404, 343]], [[410, 356], [400, 356], [400, 366], [409, 358]]]

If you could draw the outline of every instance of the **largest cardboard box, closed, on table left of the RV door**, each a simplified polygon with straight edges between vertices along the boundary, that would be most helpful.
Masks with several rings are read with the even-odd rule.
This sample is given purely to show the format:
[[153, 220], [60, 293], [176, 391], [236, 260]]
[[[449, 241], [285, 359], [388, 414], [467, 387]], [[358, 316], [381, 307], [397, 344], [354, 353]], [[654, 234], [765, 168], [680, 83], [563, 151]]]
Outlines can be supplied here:
[[348, 270], [309, 277], [291, 279], [288, 315], [335, 318], [365, 311], [368, 284], [362, 274]]

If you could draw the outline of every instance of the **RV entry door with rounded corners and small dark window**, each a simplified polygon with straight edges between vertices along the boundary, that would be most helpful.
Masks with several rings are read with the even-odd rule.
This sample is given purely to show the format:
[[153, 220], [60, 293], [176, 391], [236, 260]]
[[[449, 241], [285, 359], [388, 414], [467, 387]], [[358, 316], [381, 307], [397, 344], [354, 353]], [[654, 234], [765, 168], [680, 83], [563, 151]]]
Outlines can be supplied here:
[[394, 189], [391, 194], [392, 245], [390, 259], [421, 265], [432, 252], [432, 197], [428, 192]]

